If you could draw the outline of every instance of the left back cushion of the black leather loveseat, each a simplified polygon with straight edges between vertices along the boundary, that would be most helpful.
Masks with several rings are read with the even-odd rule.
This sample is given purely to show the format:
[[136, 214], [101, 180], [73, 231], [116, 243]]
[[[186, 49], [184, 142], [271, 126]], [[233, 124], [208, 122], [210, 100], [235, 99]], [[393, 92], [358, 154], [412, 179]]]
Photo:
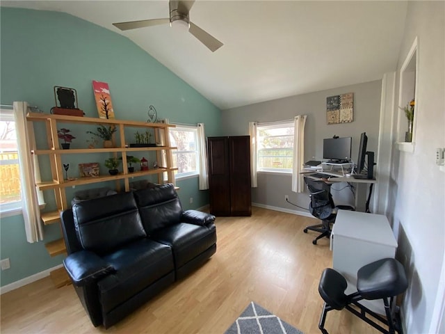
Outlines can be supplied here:
[[86, 200], [72, 207], [76, 235], [83, 249], [106, 254], [147, 237], [132, 193]]

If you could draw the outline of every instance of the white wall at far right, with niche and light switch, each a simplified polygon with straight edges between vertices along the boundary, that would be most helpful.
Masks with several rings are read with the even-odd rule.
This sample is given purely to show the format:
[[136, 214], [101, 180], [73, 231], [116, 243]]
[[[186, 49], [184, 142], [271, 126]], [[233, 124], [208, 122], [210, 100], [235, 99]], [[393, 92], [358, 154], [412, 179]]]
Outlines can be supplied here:
[[[390, 218], [399, 231], [397, 256], [405, 262], [409, 276], [403, 315], [410, 334], [438, 333], [444, 305], [445, 173], [435, 165], [435, 148], [445, 147], [444, 17], [443, 1], [409, 1], [398, 58], [400, 77], [401, 65], [417, 36], [414, 152], [400, 152], [394, 146], [389, 188]], [[398, 79], [396, 83], [398, 86]]]

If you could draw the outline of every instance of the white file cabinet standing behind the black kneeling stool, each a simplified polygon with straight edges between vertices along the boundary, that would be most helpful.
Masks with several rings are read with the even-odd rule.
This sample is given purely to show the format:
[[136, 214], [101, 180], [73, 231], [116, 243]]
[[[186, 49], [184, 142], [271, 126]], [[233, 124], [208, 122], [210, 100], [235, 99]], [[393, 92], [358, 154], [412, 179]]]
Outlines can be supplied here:
[[[357, 291], [357, 271], [366, 264], [394, 257], [397, 241], [386, 216], [339, 210], [331, 234], [332, 266], [348, 281], [346, 294]], [[385, 315], [383, 301], [361, 301]]]

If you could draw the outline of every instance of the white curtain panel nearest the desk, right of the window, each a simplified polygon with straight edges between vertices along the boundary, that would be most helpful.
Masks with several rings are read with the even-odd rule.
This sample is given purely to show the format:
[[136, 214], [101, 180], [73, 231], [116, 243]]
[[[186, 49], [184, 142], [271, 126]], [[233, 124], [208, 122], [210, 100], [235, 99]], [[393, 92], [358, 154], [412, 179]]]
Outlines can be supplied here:
[[298, 115], [293, 119], [293, 168], [292, 168], [292, 191], [302, 193], [305, 182], [302, 175], [303, 160], [305, 159], [305, 115]]

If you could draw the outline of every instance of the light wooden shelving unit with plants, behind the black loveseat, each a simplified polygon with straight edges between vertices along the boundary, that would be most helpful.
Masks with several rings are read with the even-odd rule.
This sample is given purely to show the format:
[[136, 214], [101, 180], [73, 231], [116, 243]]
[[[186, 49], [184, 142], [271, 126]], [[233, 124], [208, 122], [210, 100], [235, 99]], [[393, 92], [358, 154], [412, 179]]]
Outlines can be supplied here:
[[[57, 210], [52, 212], [43, 212], [42, 221], [44, 225], [60, 223], [60, 213], [69, 208], [65, 188], [70, 186], [79, 186], [82, 184], [93, 184], [107, 181], [116, 181], [116, 188], [120, 191], [120, 180], [124, 180], [124, 191], [129, 191], [129, 179], [145, 175], [158, 175], [158, 182], [163, 183], [163, 173], [167, 173], [168, 182], [174, 183], [174, 172], [177, 168], [172, 167], [172, 150], [177, 148], [170, 146], [168, 129], [175, 125], [165, 123], [147, 123], [133, 120], [115, 120], [104, 118], [89, 118], [78, 116], [52, 115], [46, 113], [28, 113], [26, 119], [29, 122], [44, 122], [47, 132], [47, 148], [33, 150], [31, 154], [47, 155], [51, 165], [51, 179], [44, 180], [36, 184], [40, 190], [54, 190]], [[61, 150], [59, 146], [57, 130], [60, 123], [74, 123], [83, 125], [115, 125], [118, 128], [120, 143], [115, 148], [77, 148], [72, 150]], [[125, 143], [125, 128], [140, 127], [145, 129], [154, 129], [154, 140], [156, 143], [162, 142], [161, 146], [149, 148], [129, 148]], [[162, 161], [164, 155], [166, 166], [160, 166], [156, 169], [144, 170], [135, 173], [129, 173], [127, 168], [127, 154], [129, 152], [156, 152], [157, 161]], [[65, 154], [91, 154], [91, 153], [113, 153], [114, 157], [122, 158], [122, 173], [118, 175], [99, 175], [97, 177], [79, 177], [75, 180], [64, 180], [62, 156]], [[45, 244], [49, 255], [56, 256], [66, 254], [65, 241], [63, 238], [51, 241]], [[51, 279], [56, 287], [61, 287], [70, 283], [65, 269], [59, 268], [51, 271]]]

